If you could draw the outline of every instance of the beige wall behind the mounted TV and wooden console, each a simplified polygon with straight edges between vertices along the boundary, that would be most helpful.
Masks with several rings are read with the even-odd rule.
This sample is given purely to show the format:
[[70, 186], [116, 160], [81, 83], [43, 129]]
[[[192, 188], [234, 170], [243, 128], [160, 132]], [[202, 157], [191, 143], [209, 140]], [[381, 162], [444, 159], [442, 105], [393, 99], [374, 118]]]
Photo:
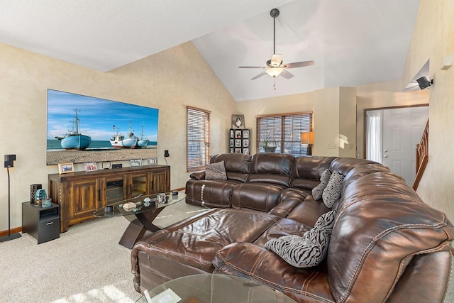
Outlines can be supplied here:
[[[0, 44], [0, 157], [16, 154], [11, 175], [11, 228], [21, 226], [21, 202], [29, 200], [30, 184], [48, 189], [45, 165], [47, 89], [152, 106], [160, 110], [158, 162], [171, 166], [171, 187], [184, 187], [186, 172], [186, 107], [211, 111], [211, 151], [227, 150], [225, 136], [235, 114], [235, 101], [196, 51], [184, 43], [111, 72], [96, 72], [50, 57]], [[129, 163], [123, 164], [128, 166]], [[83, 170], [75, 165], [75, 170]], [[0, 231], [8, 228], [6, 169], [0, 173]]]

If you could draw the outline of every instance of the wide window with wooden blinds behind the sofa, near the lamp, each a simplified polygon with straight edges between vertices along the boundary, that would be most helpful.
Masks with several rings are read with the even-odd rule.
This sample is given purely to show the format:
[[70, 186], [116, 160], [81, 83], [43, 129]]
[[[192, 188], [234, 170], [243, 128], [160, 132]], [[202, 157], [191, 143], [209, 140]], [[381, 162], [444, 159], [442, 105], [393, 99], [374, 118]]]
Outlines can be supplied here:
[[301, 144], [301, 132], [312, 131], [312, 112], [256, 117], [257, 153], [265, 153], [263, 145], [276, 146], [276, 153], [306, 155], [307, 144]]

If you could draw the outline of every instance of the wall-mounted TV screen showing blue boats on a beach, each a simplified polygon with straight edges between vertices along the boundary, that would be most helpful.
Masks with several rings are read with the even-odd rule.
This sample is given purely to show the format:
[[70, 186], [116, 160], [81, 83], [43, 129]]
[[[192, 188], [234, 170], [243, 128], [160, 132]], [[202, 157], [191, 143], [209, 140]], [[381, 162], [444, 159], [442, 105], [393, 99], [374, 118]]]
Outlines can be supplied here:
[[48, 89], [46, 164], [144, 159], [146, 165], [157, 157], [158, 117], [152, 107]]

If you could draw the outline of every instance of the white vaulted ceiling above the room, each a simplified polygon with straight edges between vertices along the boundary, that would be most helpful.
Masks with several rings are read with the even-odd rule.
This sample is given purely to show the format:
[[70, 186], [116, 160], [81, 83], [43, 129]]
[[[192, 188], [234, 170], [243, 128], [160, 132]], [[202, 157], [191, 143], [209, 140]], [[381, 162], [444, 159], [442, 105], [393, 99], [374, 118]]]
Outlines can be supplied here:
[[[263, 76], [276, 53], [294, 77]], [[419, 0], [1, 0], [0, 43], [109, 71], [192, 40], [236, 101], [402, 79]]]

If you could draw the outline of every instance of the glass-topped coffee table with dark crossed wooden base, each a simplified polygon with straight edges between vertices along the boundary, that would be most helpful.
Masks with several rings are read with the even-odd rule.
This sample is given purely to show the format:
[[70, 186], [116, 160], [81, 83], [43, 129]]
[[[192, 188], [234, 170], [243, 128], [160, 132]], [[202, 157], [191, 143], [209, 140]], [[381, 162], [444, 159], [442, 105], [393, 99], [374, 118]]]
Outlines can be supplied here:
[[[153, 224], [153, 220], [165, 207], [186, 198], [184, 190], [177, 193], [166, 192], [165, 199], [160, 202], [158, 201], [158, 195], [160, 194], [134, 197], [101, 207], [101, 209], [94, 211], [93, 215], [99, 218], [124, 216], [131, 221], [118, 242], [122, 246], [131, 249], [137, 241], [143, 238], [146, 231], [155, 232], [161, 229]], [[131, 208], [128, 208], [128, 206], [131, 206]]]

